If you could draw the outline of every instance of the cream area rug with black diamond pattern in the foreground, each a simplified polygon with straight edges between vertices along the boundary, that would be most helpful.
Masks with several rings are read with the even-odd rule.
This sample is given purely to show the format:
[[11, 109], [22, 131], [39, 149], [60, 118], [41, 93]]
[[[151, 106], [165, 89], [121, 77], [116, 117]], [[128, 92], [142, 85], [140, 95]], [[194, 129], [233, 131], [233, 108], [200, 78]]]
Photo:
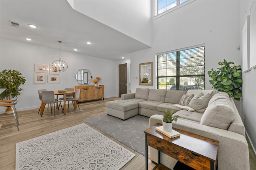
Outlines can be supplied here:
[[119, 170], [134, 156], [82, 123], [16, 143], [16, 170]]

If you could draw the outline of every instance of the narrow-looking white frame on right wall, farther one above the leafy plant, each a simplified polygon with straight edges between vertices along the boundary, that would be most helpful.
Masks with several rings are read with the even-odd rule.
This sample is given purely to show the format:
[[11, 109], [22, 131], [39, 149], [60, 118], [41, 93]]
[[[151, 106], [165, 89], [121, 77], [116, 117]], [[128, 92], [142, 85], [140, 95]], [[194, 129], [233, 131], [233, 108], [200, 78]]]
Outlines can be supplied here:
[[242, 56], [242, 70], [247, 72], [250, 70], [250, 15], [247, 16], [242, 30]]

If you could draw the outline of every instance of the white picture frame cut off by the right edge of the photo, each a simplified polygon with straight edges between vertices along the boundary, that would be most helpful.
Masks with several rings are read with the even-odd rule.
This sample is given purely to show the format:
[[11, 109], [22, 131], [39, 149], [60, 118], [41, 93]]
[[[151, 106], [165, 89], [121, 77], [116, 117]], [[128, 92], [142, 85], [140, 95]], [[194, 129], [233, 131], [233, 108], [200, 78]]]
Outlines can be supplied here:
[[256, 0], [250, 9], [250, 68], [256, 68]]

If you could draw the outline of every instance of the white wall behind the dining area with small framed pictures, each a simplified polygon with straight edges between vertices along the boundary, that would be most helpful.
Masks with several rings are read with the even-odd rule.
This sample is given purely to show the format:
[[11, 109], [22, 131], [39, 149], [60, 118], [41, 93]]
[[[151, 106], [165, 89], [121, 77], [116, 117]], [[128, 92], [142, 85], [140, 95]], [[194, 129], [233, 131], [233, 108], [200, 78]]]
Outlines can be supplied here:
[[[59, 50], [31, 45], [8, 39], [0, 39], [0, 70], [17, 69], [26, 79], [19, 96], [17, 110], [40, 107], [38, 89], [60, 90], [79, 85], [74, 78], [79, 68], [90, 70], [93, 78], [100, 76], [105, 85], [105, 98], [118, 96], [116, 61], [61, 51], [61, 59], [68, 63], [68, 69], [60, 73], [60, 83], [34, 84], [34, 64], [51, 64], [59, 59]], [[48, 73], [46, 73], [47, 78]], [[111, 76], [110, 76], [111, 75]], [[90, 85], [93, 85], [90, 82]], [[1, 111], [1, 110], [0, 110]]]

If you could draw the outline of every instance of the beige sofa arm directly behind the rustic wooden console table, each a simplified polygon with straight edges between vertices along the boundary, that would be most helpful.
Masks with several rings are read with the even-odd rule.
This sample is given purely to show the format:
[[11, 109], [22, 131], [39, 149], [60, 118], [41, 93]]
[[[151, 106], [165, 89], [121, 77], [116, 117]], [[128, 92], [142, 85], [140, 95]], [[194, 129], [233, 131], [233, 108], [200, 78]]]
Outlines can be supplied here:
[[[152, 126], [161, 121], [162, 115], [153, 115], [149, 119], [149, 125]], [[243, 135], [180, 119], [177, 122], [173, 122], [172, 125], [174, 128], [219, 141], [218, 169], [250, 169], [248, 143]], [[234, 162], [234, 160], [236, 161]]]

